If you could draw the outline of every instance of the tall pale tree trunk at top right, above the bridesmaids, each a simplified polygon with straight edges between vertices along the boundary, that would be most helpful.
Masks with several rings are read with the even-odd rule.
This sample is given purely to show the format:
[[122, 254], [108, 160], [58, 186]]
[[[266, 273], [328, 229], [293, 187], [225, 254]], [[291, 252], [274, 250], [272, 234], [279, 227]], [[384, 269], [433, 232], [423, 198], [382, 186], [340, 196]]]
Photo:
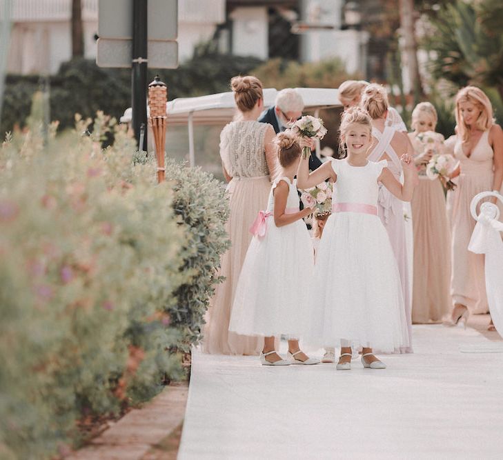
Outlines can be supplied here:
[[415, 40], [414, 0], [400, 0], [400, 30], [403, 37], [402, 52], [408, 70], [408, 81], [415, 102], [419, 101], [422, 90], [419, 63], [417, 62], [417, 42]]

